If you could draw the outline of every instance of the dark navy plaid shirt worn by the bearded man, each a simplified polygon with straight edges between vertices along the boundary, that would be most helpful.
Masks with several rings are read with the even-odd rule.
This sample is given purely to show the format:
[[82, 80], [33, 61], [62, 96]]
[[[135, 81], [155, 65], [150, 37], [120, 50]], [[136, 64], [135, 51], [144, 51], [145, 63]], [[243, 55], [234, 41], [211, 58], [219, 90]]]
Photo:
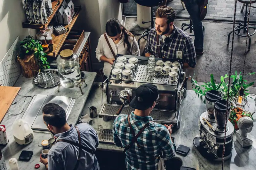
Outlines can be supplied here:
[[[174, 26], [174, 25], [173, 25]], [[148, 43], [146, 45], [145, 53], [151, 53], [158, 56], [156, 47], [156, 28], [153, 28], [148, 35]], [[169, 39], [169, 43], [166, 43], [166, 39]], [[167, 45], [168, 50], [164, 51], [164, 45]], [[192, 68], [196, 66], [196, 50], [193, 44], [192, 38], [185, 31], [174, 26], [173, 33], [170, 37], [166, 37], [163, 43], [162, 36], [159, 37], [159, 45], [161, 48], [161, 55], [167, 59], [176, 59], [176, 52], [182, 51], [183, 62], [188, 63]]]

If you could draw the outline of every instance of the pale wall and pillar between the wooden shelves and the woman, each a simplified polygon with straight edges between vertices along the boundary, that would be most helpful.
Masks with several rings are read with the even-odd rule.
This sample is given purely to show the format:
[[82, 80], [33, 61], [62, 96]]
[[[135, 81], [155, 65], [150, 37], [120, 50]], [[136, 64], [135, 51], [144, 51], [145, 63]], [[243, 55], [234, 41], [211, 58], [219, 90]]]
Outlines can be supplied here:
[[95, 50], [100, 36], [105, 33], [106, 22], [110, 18], [122, 21], [121, 4], [118, 0], [76, 0], [75, 5], [81, 5], [82, 11], [74, 26], [91, 32], [91, 51], [93, 69], [98, 70], [103, 63], [96, 59]]

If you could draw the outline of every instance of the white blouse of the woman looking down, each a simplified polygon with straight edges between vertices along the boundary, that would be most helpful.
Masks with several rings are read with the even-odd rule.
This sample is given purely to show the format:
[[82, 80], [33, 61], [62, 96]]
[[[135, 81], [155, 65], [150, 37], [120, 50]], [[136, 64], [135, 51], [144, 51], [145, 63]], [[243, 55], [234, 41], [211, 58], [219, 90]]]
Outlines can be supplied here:
[[[115, 44], [115, 42], [108, 37], [108, 41], [110, 43], [110, 46], [112, 47], [115, 55], [117, 54], [121, 54], [121, 55], [136, 55], [136, 56], [140, 56], [140, 48], [138, 45], [138, 42], [136, 41], [136, 39], [133, 37], [130, 37], [129, 41], [131, 44], [130, 50], [128, 51], [127, 49], [127, 45], [125, 44], [124, 47], [124, 36], [123, 38], [117, 43]], [[100, 36], [99, 38], [99, 42], [98, 42], [98, 46], [96, 48], [96, 58], [100, 61], [100, 57], [102, 55], [105, 55], [107, 58], [115, 58], [110, 50], [110, 48], [108, 47], [108, 43], [104, 37], [104, 34]], [[109, 77], [110, 75], [110, 71], [111, 71], [111, 67], [112, 65], [109, 64], [108, 62], [104, 63], [104, 68], [103, 68], [103, 72], [105, 74], [105, 76]]]

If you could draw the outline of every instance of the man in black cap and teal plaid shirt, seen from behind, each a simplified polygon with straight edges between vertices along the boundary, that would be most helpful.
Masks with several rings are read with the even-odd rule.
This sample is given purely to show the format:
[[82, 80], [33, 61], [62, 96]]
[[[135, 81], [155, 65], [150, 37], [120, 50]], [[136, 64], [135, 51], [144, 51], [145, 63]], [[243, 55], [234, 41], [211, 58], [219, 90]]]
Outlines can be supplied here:
[[164, 160], [175, 155], [172, 125], [158, 124], [149, 116], [159, 102], [155, 85], [140, 85], [135, 94], [130, 103], [135, 111], [130, 115], [118, 115], [113, 123], [114, 142], [124, 147], [127, 170], [157, 170], [160, 155]]

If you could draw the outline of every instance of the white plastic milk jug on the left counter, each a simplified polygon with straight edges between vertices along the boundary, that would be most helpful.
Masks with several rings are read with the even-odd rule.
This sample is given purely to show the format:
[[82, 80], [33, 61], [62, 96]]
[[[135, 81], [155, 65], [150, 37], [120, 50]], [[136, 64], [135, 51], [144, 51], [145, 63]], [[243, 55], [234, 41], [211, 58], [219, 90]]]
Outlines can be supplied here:
[[18, 144], [29, 144], [34, 139], [34, 132], [28, 122], [22, 119], [15, 120], [12, 124], [12, 133], [15, 142]]

